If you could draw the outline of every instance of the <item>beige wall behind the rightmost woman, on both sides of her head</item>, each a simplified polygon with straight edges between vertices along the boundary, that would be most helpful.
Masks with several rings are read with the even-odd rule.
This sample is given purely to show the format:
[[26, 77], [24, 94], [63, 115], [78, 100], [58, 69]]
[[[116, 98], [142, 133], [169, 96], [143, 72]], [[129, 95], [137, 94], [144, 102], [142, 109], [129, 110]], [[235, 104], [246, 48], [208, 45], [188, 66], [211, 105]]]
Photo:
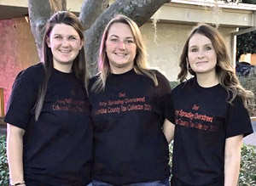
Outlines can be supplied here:
[[[148, 22], [141, 27], [144, 42], [148, 48], [148, 62], [151, 67], [157, 67], [169, 81], [176, 81], [179, 72], [178, 58], [183, 50], [183, 44], [193, 25], [174, 23], [157, 23], [154, 42], [154, 26]], [[234, 28], [219, 28], [227, 46], [231, 46], [230, 32]], [[231, 49], [230, 49], [231, 53]]]

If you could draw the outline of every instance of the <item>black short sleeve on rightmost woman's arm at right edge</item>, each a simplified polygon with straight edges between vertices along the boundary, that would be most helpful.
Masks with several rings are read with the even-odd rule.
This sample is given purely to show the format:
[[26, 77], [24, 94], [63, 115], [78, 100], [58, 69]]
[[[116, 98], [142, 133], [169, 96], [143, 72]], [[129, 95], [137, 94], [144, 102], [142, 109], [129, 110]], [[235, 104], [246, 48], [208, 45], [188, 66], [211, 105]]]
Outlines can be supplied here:
[[253, 132], [252, 123], [249, 113], [244, 107], [240, 97], [229, 104], [227, 123], [226, 123], [226, 138], [243, 134], [246, 137]]

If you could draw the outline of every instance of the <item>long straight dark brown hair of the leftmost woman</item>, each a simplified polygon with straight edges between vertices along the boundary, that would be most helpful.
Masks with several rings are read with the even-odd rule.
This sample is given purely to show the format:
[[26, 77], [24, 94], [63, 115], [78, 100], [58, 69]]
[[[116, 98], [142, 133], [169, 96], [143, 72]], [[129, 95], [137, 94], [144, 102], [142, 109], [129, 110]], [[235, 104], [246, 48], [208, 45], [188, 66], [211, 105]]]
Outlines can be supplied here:
[[[50, 32], [54, 28], [56, 24], [65, 24], [71, 25], [73, 28], [78, 31], [79, 37], [81, 40], [84, 40], [84, 28], [83, 25], [80, 23], [79, 18], [68, 11], [60, 11], [53, 14], [49, 21], [46, 24], [45, 33], [44, 33], [44, 43], [43, 43], [43, 54], [44, 54], [44, 82], [39, 87], [38, 90], [38, 100], [35, 104], [35, 119], [38, 121], [38, 117], [40, 116], [41, 110], [44, 105], [44, 98], [47, 91], [47, 86], [49, 82], [49, 76], [51, 74], [52, 69], [54, 68], [53, 65], [53, 54], [51, 49], [47, 45], [47, 38], [50, 35]], [[73, 60], [72, 70], [74, 75], [79, 79], [79, 81], [83, 82], [84, 88], [87, 90], [87, 70], [85, 64], [85, 57], [84, 57], [84, 47], [82, 47], [79, 51], [78, 56]]]

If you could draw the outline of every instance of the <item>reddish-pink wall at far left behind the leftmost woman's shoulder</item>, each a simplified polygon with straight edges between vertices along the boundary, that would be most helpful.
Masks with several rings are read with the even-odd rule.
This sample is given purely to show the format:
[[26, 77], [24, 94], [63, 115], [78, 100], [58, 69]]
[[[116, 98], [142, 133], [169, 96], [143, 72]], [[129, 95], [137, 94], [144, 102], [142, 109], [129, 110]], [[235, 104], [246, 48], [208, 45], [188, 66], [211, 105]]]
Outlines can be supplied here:
[[15, 77], [20, 70], [38, 63], [38, 51], [24, 18], [0, 20], [0, 33], [0, 87], [3, 87], [6, 111]]

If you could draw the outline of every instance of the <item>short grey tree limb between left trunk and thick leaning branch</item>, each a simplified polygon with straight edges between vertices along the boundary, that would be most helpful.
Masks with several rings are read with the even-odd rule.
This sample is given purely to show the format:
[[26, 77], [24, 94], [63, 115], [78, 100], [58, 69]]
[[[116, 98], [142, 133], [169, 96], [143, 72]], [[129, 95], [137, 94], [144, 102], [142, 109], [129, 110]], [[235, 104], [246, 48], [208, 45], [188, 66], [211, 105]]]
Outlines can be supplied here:
[[108, 3], [109, 0], [84, 0], [80, 10], [79, 20], [81, 20], [85, 30], [90, 29], [90, 26], [108, 7]]

